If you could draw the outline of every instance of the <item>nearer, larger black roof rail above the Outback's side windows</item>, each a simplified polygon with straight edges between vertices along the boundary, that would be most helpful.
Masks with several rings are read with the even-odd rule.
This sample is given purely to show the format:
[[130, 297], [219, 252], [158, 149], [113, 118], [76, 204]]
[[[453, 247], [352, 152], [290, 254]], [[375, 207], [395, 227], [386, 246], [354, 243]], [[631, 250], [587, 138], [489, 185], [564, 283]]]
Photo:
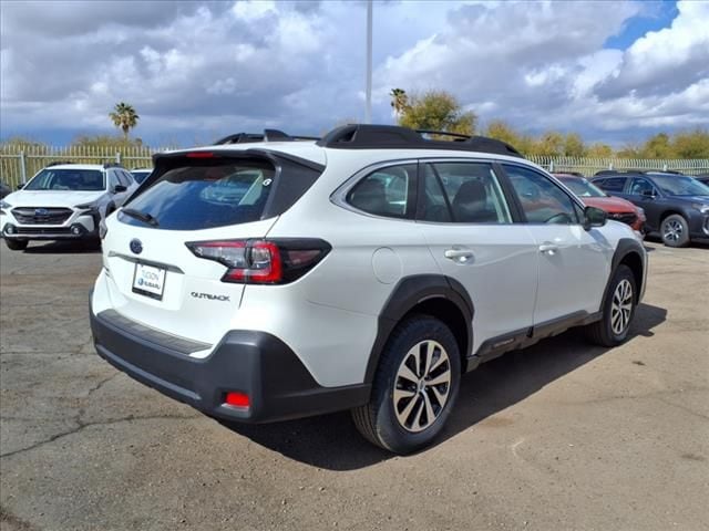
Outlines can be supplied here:
[[[454, 140], [428, 139], [422, 135], [451, 136]], [[510, 144], [486, 136], [469, 136], [446, 131], [414, 131], [398, 125], [343, 125], [332, 129], [316, 144], [337, 149], [455, 149], [524, 158]]]

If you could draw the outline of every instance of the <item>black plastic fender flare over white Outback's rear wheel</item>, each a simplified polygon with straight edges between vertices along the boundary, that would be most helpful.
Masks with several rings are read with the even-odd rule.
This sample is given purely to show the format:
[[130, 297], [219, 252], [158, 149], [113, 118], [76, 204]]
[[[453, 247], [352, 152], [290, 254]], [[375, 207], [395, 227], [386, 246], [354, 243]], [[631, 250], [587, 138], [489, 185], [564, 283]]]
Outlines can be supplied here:
[[473, 315], [474, 306], [467, 291], [455, 279], [443, 274], [415, 274], [401, 279], [392, 290], [389, 299], [384, 303], [377, 325], [377, 337], [367, 363], [364, 383], [371, 384], [379, 358], [387, 341], [401, 319], [407, 315], [417, 304], [430, 299], [444, 299], [458, 306], [463, 314], [466, 324], [466, 337], [463, 344], [465, 350], [463, 358], [470, 356], [473, 345]]

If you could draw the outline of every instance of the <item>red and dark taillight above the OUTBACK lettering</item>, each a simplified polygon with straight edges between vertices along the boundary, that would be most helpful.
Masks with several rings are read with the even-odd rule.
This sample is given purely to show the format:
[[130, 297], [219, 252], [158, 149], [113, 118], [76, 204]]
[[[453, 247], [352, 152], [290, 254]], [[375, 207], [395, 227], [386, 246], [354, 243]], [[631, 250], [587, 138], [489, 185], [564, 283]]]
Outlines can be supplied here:
[[214, 260], [228, 269], [223, 282], [285, 284], [310, 271], [330, 251], [318, 239], [191, 241], [187, 248], [198, 258]]

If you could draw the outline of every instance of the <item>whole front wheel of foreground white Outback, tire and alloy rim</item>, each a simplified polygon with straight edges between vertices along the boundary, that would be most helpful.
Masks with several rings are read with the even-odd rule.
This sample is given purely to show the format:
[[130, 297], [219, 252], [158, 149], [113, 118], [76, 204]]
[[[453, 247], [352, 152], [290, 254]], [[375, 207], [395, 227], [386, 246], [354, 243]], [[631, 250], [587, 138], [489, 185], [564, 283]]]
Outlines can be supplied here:
[[593, 343], [616, 346], [627, 339], [637, 304], [636, 289], [635, 275], [630, 268], [619, 266], [610, 282], [603, 317], [586, 327]]

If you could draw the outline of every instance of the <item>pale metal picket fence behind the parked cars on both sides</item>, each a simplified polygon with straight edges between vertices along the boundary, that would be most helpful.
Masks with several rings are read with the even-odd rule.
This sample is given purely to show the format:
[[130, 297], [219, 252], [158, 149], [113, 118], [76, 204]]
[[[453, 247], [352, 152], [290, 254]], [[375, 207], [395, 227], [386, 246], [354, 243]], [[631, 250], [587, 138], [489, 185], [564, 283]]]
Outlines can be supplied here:
[[[152, 167], [153, 155], [168, 148], [147, 146], [69, 146], [0, 145], [0, 178], [12, 188], [27, 183], [34, 174], [53, 162], [84, 164], [120, 163], [129, 169]], [[583, 157], [527, 157], [549, 171], [578, 171], [590, 177], [602, 169], [659, 169], [688, 175], [709, 173], [709, 159], [633, 159]]]

